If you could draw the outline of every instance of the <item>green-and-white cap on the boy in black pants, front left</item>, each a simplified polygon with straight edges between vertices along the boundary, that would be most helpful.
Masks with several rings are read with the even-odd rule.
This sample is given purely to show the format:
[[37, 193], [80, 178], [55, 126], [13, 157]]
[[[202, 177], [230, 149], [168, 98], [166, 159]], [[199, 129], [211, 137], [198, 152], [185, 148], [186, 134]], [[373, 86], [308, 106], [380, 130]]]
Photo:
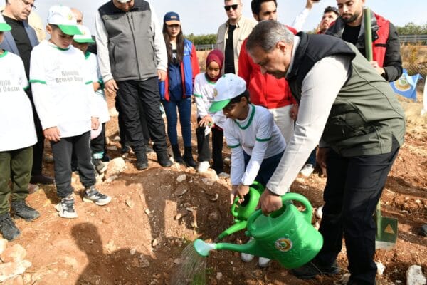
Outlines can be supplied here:
[[63, 5], [54, 5], [49, 8], [48, 24], [58, 26], [66, 35], [80, 35], [82, 32], [77, 26], [77, 21], [71, 9]]

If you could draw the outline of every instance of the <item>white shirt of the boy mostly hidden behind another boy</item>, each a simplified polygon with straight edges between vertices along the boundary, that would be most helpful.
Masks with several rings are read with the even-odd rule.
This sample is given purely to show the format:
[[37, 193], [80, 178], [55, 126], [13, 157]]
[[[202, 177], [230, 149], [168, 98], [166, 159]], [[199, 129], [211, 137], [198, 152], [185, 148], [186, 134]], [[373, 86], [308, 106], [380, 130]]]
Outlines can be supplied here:
[[[85, 58], [86, 64], [88, 65], [90, 78], [92, 79], [93, 83], [102, 83], [97, 56], [93, 53], [87, 52]], [[97, 108], [97, 113], [100, 116], [100, 124], [108, 122], [110, 120], [110, 113], [108, 113], [108, 104], [107, 99], [105, 98], [104, 90], [99, 88], [95, 91], [95, 95], [95, 108]]]

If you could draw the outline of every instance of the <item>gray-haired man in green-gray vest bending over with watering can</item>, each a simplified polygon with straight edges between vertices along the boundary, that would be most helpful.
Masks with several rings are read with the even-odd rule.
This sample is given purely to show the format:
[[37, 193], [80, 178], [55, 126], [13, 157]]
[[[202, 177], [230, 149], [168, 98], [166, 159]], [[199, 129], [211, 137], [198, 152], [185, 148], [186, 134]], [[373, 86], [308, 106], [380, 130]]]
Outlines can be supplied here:
[[253, 29], [246, 49], [263, 73], [285, 77], [300, 103], [295, 133], [260, 197], [263, 212], [282, 207], [280, 195], [319, 141], [317, 160], [327, 167], [320, 224], [324, 244], [294, 274], [301, 279], [337, 274], [344, 235], [348, 284], [375, 284], [372, 214], [404, 142], [404, 110], [396, 95], [357, 48], [339, 38], [294, 36], [277, 21], [263, 21]]

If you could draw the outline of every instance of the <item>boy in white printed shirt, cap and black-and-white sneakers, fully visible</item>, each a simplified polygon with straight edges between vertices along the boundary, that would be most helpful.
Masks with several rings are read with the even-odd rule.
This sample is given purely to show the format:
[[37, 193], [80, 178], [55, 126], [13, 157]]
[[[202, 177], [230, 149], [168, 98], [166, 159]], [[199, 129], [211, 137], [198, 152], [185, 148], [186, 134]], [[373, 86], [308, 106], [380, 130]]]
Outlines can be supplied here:
[[55, 183], [60, 217], [75, 218], [71, 187], [71, 154], [78, 160], [80, 182], [85, 187], [84, 202], [105, 205], [111, 197], [94, 187], [95, 169], [91, 162], [90, 130], [99, 126], [95, 93], [83, 53], [71, 46], [80, 34], [67, 6], [51, 6], [46, 31], [51, 35], [31, 52], [30, 82], [43, 133], [51, 141], [55, 160]]

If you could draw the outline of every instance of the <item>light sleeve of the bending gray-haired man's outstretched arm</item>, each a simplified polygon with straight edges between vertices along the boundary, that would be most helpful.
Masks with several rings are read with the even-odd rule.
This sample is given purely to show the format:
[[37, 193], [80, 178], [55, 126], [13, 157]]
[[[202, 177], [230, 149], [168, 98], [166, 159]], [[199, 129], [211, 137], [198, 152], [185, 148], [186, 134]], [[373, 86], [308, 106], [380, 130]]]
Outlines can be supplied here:
[[318, 61], [305, 76], [295, 132], [267, 184], [270, 192], [285, 194], [297, 177], [322, 136], [332, 104], [347, 81], [350, 65], [348, 58], [330, 56]]

